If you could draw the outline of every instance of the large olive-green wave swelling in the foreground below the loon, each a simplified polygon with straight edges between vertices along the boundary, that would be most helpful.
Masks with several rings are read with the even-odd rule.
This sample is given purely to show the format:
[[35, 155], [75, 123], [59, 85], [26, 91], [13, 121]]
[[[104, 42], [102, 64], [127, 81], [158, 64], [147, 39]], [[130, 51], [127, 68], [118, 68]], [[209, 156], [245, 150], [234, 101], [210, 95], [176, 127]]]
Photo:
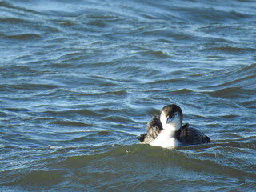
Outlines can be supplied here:
[[[250, 169], [253, 162], [241, 166], [242, 162], [239, 162], [241, 158], [233, 157], [232, 153], [234, 150], [241, 150], [237, 147], [232, 144], [230, 146], [210, 144], [165, 150], [147, 145], [109, 146], [108, 151], [103, 153], [55, 159], [54, 163], [46, 164], [43, 169], [34, 168], [27, 174], [16, 175], [15, 181], [8, 182], [8, 184], [54, 188], [66, 182], [66, 175], [72, 173], [74, 178], [78, 179], [78, 183], [89, 183], [86, 186], [87, 190], [101, 187], [109, 189], [110, 184], [114, 187], [122, 186], [125, 189], [128, 187], [134, 190], [141, 189], [141, 187], [147, 189], [150, 186], [143, 184], [145, 180], [146, 183], [153, 182], [156, 186], [166, 185], [166, 181], [169, 180], [170, 182], [167, 183], [170, 184], [166, 187], [172, 186], [174, 190], [181, 189], [178, 183], [183, 185], [185, 181], [190, 182], [191, 185], [204, 183], [202, 184], [204, 187], [209, 183], [215, 183], [215, 185], [218, 183], [223, 187], [221, 180], [232, 181], [237, 178], [251, 182], [248, 186], [250, 188], [251, 185], [254, 186], [255, 173]], [[226, 150], [226, 157], [222, 155], [222, 150]], [[231, 159], [233, 164], [229, 163]], [[142, 174], [143, 177], [138, 177], [138, 174]], [[197, 174], [196, 178], [194, 174]], [[222, 179], [214, 178], [213, 175], [216, 174]], [[115, 184], [113, 178], [116, 178]], [[123, 182], [124, 179], [126, 182]], [[130, 186], [129, 183], [133, 185]], [[68, 186], [70, 185], [72, 186], [72, 184]], [[237, 183], [229, 182], [229, 185], [231, 188], [238, 187]], [[182, 186], [182, 189], [188, 188], [190, 187]]]

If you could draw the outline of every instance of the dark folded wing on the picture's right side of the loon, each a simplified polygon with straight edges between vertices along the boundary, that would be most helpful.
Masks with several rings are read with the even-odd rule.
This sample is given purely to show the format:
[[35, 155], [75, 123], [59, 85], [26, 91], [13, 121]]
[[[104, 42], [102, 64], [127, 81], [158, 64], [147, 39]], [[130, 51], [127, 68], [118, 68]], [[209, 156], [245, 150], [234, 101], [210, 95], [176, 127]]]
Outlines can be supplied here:
[[181, 130], [179, 140], [185, 145], [210, 143], [210, 138], [203, 134], [201, 130], [197, 130], [190, 127], [186, 127]]

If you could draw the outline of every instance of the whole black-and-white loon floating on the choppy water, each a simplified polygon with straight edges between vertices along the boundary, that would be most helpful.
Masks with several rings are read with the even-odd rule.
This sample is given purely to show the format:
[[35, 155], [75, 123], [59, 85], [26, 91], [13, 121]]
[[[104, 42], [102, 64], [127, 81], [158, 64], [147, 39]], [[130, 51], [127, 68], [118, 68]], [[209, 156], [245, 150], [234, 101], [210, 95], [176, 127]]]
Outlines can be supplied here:
[[164, 148], [210, 143], [210, 138], [202, 131], [190, 128], [188, 123], [182, 126], [182, 118], [179, 106], [164, 106], [161, 114], [154, 115], [147, 123], [147, 132], [141, 134], [138, 140], [143, 144]]

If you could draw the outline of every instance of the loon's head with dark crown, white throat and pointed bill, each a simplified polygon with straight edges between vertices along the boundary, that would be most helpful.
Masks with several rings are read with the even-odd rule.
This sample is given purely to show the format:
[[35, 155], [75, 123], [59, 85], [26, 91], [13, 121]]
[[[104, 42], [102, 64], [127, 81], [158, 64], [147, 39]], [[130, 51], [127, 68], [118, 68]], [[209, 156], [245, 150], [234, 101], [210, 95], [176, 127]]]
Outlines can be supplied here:
[[177, 131], [182, 126], [182, 109], [174, 104], [164, 106], [161, 111], [160, 121], [165, 130]]

